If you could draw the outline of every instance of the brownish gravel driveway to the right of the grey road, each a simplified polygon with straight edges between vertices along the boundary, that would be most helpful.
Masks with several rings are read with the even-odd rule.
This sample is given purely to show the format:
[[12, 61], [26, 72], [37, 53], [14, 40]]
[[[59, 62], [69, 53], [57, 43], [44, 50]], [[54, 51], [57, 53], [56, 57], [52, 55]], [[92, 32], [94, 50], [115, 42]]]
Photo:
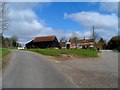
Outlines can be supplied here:
[[118, 53], [102, 51], [99, 58], [76, 58], [56, 64], [80, 88], [117, 88]]

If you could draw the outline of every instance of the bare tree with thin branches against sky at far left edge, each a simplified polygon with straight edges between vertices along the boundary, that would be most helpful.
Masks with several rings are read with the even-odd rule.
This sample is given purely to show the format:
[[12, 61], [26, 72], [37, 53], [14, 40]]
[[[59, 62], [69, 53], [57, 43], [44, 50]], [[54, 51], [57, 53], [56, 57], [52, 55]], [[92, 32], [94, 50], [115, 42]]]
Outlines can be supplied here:
[[6, 2], [0, 2], [0, 36], [8, 29], [8, 8]]

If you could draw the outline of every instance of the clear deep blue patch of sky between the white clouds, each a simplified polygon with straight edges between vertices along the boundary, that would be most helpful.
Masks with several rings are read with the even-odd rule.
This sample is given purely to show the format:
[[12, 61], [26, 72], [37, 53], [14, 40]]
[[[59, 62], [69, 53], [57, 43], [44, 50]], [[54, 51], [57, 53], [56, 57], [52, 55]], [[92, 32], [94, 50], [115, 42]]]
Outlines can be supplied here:
[[35, 13], [45, 20], [48, 26], [55, 29], [83, 30], [81, 25], [76, 24], [70, 19], [64, 18], [64, 13], [75, 13], [81, 11], [99, 11], [99, 3], [89, 2], [53, 2], [43, 10], [35, 9]]

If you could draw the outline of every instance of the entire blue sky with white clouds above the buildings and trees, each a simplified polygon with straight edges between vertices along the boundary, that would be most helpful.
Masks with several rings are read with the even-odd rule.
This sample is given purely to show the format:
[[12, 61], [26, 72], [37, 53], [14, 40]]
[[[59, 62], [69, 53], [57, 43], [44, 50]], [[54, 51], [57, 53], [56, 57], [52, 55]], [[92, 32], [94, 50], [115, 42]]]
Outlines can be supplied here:
[[9, 2], [9, 30], [26, 44], [38, 36], [90, 38], [92, 27], [108, 41], [118, 35], [117, 2]]

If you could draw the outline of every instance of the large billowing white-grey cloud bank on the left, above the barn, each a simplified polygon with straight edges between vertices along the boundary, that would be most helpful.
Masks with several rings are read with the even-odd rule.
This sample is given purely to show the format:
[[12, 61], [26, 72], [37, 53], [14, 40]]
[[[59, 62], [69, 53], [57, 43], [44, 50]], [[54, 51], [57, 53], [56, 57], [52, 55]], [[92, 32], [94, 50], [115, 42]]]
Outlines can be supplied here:
[[17, 35], [19, 42], [26, 43], [36, 36], [57, 35], [62, 36], [62, 30], [54, 30], [45, 26], [32, 9], [10, 9], [10, 29], [4, 33], [5, 36]]

